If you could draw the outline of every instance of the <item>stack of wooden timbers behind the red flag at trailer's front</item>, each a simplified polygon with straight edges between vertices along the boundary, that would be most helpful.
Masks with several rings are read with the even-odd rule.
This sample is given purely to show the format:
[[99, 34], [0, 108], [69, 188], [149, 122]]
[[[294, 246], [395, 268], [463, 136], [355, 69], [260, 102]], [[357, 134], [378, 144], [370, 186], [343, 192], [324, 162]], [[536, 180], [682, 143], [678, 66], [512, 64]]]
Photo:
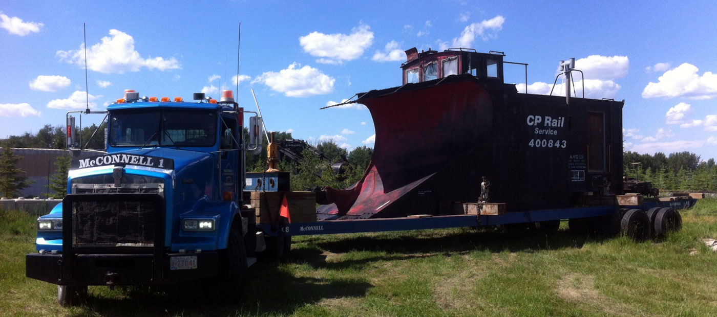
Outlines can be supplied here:
[[286, 195], [292, 223], [316, 221], [315, 192], [252, 192], [252, 206], [256, 208], [257, 223], [282, 223], [279, 212]]

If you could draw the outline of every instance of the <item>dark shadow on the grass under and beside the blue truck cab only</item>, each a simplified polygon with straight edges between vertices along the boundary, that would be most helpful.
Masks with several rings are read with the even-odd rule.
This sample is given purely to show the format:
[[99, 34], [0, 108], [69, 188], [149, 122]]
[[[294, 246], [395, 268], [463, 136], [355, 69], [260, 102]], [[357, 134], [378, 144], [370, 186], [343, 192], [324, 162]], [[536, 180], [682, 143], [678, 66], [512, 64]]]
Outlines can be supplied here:
[[222, 303], [207, 296], [206, 285], [173, 286], [165, 291], [127, 288], [109, 293], [103, 288], [90, 288], [90, 298], [70, 316], [283, 316], [325, 298], [365, 296], [371, 284], [297, 277], [277, 263], [259, 262], [250, 268], [250, 281], [238, 303]]

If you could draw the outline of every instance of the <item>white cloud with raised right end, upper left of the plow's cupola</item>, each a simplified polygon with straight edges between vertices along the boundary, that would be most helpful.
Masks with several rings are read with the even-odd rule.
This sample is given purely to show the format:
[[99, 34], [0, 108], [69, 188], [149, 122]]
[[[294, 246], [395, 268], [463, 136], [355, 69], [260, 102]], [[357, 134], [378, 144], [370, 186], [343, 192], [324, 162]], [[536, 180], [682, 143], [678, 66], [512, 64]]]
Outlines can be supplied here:
[[357, 59], [374, 43], [374, 32], [371, 27], [361, 24], [351, 29], [351, 34], [323, 34], [313, 31], [301, 36], [299, 43], [304, 52], [321, 57], [316, 62], [322, 64], [341, 64], [344, 61]]

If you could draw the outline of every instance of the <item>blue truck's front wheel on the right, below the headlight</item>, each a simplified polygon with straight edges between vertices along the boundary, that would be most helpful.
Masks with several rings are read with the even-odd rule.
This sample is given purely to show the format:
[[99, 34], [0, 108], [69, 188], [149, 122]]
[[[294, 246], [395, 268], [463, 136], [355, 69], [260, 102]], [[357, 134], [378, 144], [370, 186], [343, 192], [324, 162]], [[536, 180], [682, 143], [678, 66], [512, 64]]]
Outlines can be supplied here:
[[221, 298], [236, 302], [242, 298], [244, 288], [247, 286], [247, 250], [244, 248], [244, 239], [239, 230], [229, 232], [227, 250], [220, 255], [219, 285], [222, 286]]

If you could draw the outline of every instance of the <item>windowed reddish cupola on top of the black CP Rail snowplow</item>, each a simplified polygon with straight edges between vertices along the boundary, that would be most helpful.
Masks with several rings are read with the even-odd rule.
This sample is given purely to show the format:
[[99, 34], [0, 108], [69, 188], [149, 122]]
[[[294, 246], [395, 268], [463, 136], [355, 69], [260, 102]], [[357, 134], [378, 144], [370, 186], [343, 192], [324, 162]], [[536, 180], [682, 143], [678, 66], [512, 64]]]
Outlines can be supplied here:
[[407, 61], [401, 65], [403, 83], [412, 84], [445, 78], [453, 74], [473, 74], [487, 82], [503, 83], [503, 52], [479, 53], [475, 49], [446, 49], [443, 52], [406, 51]]

